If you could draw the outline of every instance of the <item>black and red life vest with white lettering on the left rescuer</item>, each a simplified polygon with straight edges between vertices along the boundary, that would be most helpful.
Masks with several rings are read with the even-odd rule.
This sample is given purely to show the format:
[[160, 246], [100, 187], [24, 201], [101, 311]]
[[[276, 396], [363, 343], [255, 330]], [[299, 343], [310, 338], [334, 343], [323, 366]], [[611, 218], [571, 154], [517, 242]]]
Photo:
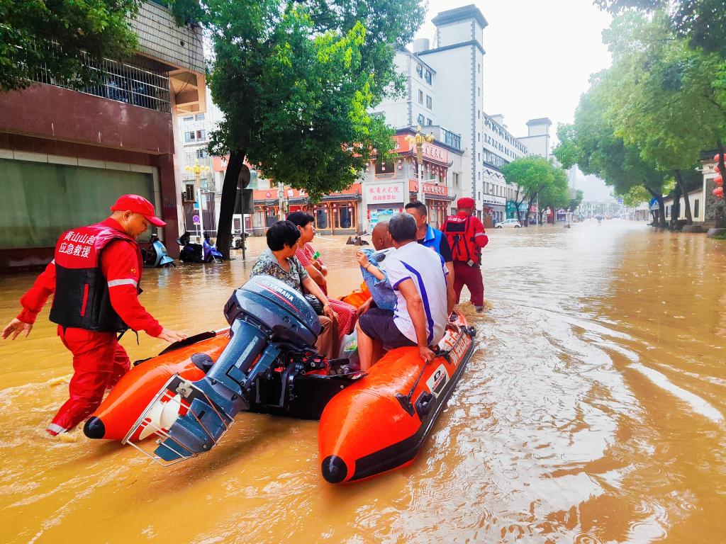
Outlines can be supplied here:
[[[55, 247], [55, 295], [50, 320], [89, 331], [129, 329], [111, 305], [101, 252], [114, 240], [134, 244], [139, 279], [144, 261], [139, 244], [128, 234], [103, 223], [75, 228], [60, 236]], [[139, 281], [140, 283], [140, 281]], [[139, 285], [136, 290], [141, 293]]]

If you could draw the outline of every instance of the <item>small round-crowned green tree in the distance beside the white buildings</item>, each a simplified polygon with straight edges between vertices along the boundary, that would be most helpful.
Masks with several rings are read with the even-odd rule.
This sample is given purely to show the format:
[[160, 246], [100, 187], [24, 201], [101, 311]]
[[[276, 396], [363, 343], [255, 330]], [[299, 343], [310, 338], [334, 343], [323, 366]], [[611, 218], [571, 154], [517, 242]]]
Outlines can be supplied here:
[[[526, 201], [527, 210], [531, 210], [538, 198], [541, 207], [562, 207], [568, 201], [565, 171], [555, 167], [544, 157], [533, 155], [513, 160], [502, 166], [502, 174], [508, 184], [516, 184], [519, 188], [515, 201], [520, 222], [522, 222], [522, 218], [519, 205], [522, 202]], [[527, 215], [526, 213], [524, 216], [524, 226], [529, 226]]]

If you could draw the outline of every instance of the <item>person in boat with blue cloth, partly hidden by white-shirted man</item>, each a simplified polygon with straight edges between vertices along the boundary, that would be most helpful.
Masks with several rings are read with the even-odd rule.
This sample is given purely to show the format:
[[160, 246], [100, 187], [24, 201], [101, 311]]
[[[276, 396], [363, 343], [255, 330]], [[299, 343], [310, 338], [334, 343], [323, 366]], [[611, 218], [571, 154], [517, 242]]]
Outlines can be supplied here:
[[393, 247], [393, 239], [388, 232], [388, 221], [377, 223], [373, 227], [372, 241], [375, 250], [366, 248], [356, 252], [365, 284], [361, 287], [366, 288], [364, 291], [370, 294], [378, 308], [393, 310], [396, 308], [396, 293], [388, 282], [386, 265], [389, 262], [388, 255], [396, 251], [396, 248]]

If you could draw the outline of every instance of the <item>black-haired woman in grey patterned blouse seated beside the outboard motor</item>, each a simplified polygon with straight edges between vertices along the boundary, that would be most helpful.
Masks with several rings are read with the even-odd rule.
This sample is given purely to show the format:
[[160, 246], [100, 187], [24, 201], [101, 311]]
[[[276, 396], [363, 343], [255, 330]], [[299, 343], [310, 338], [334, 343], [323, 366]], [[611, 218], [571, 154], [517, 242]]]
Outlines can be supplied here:
[[322, 331], [315, 343], [318, 353], [335, 358], [338, 356], [338, 316], [327, 297], [310, 277], [300, 261], [295, 258], [300, 231], [291, 221], [277, 221], [267, 229], [267, 249], [261, 253], [250, 276], [266, 274], [284, 281], [301, 293], [308, 292], [322, 303], [322, 316], [318, 316]]

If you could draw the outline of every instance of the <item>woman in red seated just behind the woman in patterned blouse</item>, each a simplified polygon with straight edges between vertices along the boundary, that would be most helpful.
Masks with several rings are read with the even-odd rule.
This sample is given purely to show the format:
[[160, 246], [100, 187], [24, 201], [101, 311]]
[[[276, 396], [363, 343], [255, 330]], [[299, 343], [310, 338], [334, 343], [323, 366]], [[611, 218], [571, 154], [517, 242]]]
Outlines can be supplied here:
[[346, 334], [353, 331], [356, 321], [356, 308], [342, 300], [335, 300], [327, 296], [327, 268], [320, 258], [314, 258], [315, 249], [310, 243], [315, 237], [315, 218], [309, 213], [293, 212], [287, 215], [287, 221], [292, 221], [300, 231], [298, 249], [295, 250], [295, 257], [300, 261], [311, 279], [318, 284], [327, 297], [330, 307], [338, 315], [338, 337], [342, 339]]

